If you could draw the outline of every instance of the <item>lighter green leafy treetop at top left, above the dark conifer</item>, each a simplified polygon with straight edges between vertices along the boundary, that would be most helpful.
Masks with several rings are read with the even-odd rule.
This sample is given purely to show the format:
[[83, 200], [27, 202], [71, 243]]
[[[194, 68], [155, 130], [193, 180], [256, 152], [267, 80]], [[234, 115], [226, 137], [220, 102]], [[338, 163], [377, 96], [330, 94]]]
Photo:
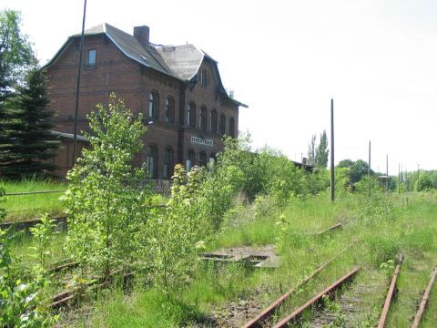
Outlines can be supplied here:
[[0, 106], [5, 94], [19, 84], [27, 68], [36, 63], [32, 47], [22, 34], [20, 24], [19, 12], [7, 9], [0, 11]]

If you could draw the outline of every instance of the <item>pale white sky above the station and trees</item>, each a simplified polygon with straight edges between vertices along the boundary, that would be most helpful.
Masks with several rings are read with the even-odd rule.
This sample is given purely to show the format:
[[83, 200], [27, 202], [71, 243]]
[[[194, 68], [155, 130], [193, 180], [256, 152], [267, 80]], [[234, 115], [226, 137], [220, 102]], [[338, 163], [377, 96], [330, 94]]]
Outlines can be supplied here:
[[[82, 26], [82, 0], [2, 0], [44, 65]], [[194, 44], [219, 62], [224, 86], [248, 104], [239, 130], [254, 149], [306, 156], [334, 100], [335, 161], [389, 174], [437, 169], [435, 0], [87, 0], [86, 28], [106, 22], [150, 41]]]

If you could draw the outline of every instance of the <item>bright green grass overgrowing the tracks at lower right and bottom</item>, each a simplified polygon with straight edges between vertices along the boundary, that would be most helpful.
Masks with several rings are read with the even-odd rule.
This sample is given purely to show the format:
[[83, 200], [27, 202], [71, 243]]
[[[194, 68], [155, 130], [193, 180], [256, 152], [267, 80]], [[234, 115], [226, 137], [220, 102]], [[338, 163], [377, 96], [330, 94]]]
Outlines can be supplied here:
[[[358, 195], [345, 195], [334, 203], [328, 195], [322, 194], [306, 200], [290, 200], [283, 209], [270, 205], [237, 206], [207, 248], [212, 251], [220, 247], [276, 244], [282, 256], [279, 269], [253, 270], [239, 264], [214, 266], [199, 262], [192, 282], [186, 288], [174, 291], [169, 300], [162, 292], [145, 285], [134, 286], [128, 294], [116, 288], [102, 292], [97, 301], [88, 304], [86, 314], [79, 315], [83, 319], [72, 320], [66, 314], [61, 325], [188, 327], [198, 323], [208, 326], [217, 320], [235, 320], [236, 324], [242, 325], [248, 318], [232, 319], [238, 314], [241, 302], [264, 308], [357, 239], [359, 243], [293, 294], [275, 320], [356, 265], [361, 265], [361, 272], [352, 282], [351, 291], [354, 283], [378, 282], [388, 288], [394, 267], [392, 260], [403, 252], [405, 263], [399, 279], [400, 292], [386, 326], [411, 325], [416, 311], [413, 299], [422, 298], [432, 268], [437, 265], [437, 244], [433, 237], [437, 231], [435, 193], [390, 195], [388, 198], [380, 195], [370, 202]], [[314, 235], [338, 222], [343, 223], [341, 230]], [[28, 256], [26, 245], [28, 247], [30, 242], [16, 245], [24, 258]], [[53, 246], [60, 248], [61, 243], [62, 236], [59, 236]], [[385, 292], [381, 288], [365, 297], [363, 302], [367, 310], [361, 312], [357, 326], [378, 323]], [[436, 313], [437, 287], [434, 286], [422, 326], [435, 326]], [[311, 315], [309, 312], [305, 317]]]

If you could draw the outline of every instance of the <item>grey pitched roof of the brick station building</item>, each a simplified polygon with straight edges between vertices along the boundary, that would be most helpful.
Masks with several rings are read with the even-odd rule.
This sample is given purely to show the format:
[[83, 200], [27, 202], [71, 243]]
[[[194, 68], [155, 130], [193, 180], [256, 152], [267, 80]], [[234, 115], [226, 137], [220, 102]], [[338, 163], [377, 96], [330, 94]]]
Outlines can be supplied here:
[[[143, 46], [138, 42], [135, 36], [129, 35], [107, 23], [86, 29], [84, 34], [85, 36], [104, 34], [125, 56], [137, 61], [145, 67], [155, 69], [182, 81], [189, 81], [192, 78], [195, 78], [198, 74], [200, 65], [203, 60], [207, 58], [215, 64], [213, 67], [217, 73], [220, 90], [229, 97], [226, 93], [225, 87], [223, 87], [223, 84], [221, 83], [217, 61], [208, 56], [204, 51], [198, 49], [197, 46], [154, 46], [152, 44]], [[80, 36], [80, 34], [70, 36], [64, 46], [59, 49], [56, 55], [43, 68], [52, 66], [56, 62], [57, 57], [66, 50], [66, 47], [72, 42], [72, 40]], [[240, 106], [247, 107], [247, 105], [241, 104], [235, 99], [230, 97], [229, 99]]]

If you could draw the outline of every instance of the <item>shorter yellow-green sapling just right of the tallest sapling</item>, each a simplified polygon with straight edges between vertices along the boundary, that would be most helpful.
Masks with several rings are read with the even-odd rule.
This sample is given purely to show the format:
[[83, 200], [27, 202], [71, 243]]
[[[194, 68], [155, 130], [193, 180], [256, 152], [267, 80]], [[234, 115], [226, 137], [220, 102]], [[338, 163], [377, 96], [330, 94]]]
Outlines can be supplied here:
[[[202, 215], [204, 203], [202, 169], [187, 174], [181, 164], [175, 167], [168, 207], [162, 215], [147, 220], [147, 238], [139, 242], [139, 258], [147, 265], [151, 280], [168, 300], [190, 281], [198, 262], [198, 246], [208, 234], [208, 218]], [[147, 251], [145, 250], [147, 249]]]

